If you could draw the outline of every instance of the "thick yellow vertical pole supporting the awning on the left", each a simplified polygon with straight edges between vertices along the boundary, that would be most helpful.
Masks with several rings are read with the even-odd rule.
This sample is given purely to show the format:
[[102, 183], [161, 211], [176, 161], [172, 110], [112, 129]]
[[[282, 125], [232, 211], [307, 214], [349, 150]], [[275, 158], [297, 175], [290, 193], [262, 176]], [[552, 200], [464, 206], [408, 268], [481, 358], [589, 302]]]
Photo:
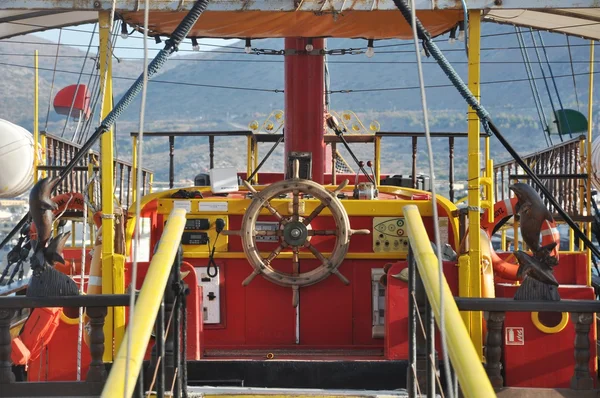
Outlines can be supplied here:
[[[101, 117], [104, 119], [112, 110], [112, 48], [110, 48], [110, 12], [98, 13], [100, 27], [100, 87], [104, 87]], [[102, 294], [115, 294], [113, 286], [113, 254], [114, 254], [114, 202], [113, 202], [113, 129], [104, 133], [100, 140], [101, 147], [101, 191], [102, 191]], [[122, 292], [118, 292], [122, 293]], [[104, 322], [104, 361], [113, 359], [113, 338], [115, 315], [123, 309], [108, 308]], [[123, 313], [124, 314], [124, 313]], [[124, 320], [123, 320], [124, 322]]]

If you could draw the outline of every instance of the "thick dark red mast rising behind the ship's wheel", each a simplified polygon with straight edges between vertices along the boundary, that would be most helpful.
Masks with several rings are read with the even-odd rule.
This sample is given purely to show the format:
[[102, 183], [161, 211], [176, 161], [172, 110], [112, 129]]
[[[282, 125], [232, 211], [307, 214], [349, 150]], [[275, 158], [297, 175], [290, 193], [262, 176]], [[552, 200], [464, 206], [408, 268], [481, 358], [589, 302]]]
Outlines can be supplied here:
[[[285, 49], [285, 167], [289, 152], [312, 153], [312, 179], [324, 183], [325, 141], [323, 55], [306, 52], [308, 39], [286, 38]], [[312, 39], [314, 50], [323, 49], [324, 39]]]

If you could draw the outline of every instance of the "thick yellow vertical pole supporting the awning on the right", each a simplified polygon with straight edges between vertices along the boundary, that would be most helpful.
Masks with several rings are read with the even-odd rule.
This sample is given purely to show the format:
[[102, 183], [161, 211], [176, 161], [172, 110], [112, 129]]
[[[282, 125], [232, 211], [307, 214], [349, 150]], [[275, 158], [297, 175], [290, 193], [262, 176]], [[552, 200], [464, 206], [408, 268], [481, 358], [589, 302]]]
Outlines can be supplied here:
[[[481, 97], [480, 92], [480, 60], [481, 60], [481, 19], [479, 10], [469, 11], [469, 89], [475, 95], [477, 100]], [[477, 113], [469, 107], [468, 112], [468, 204], [469, 204], [469, 271], [468, 281], [461, 281], [461, 285], [468, 283], [467, 296], [481, 297], [481, 249], [479, 231], [479, 209], [481, 207], [481, 198], [479, 195], [480, 186], [480, 135], [479, 118]], [[477, 350], [477, 353], [483, 358], [482, 348], [482, 314], [481, 312], [472, 312], [470, 314], [471, 340]]]

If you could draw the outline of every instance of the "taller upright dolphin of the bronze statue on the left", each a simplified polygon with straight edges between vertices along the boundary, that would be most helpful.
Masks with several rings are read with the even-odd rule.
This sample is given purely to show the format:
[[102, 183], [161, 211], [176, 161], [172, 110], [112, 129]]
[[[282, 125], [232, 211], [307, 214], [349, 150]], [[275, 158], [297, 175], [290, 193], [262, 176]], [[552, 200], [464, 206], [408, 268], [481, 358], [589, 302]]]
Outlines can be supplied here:
[[54, 219], [52, 211], [58, 208], [58, 205], [50, 198], [56, 182], [58, 179], [43, 178], [33, 186], [29, 193], [29, 213], [37, 231], [37, 240], [32, 242], [32, 246], [34, 257], [39, 265], [44, 264], [43, 250], [52, 234]]

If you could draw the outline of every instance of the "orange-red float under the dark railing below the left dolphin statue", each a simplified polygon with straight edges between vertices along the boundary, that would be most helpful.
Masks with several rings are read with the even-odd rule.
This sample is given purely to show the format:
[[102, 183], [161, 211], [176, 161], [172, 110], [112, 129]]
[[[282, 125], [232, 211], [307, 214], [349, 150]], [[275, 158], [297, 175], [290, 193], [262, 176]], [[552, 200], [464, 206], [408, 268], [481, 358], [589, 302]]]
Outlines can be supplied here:
[[52, 339], [60, 321], [62, 308], [35, 308], [19, 336], [12, 342], [11, 360], [15, 365], [27, 365], [37, 359]]

